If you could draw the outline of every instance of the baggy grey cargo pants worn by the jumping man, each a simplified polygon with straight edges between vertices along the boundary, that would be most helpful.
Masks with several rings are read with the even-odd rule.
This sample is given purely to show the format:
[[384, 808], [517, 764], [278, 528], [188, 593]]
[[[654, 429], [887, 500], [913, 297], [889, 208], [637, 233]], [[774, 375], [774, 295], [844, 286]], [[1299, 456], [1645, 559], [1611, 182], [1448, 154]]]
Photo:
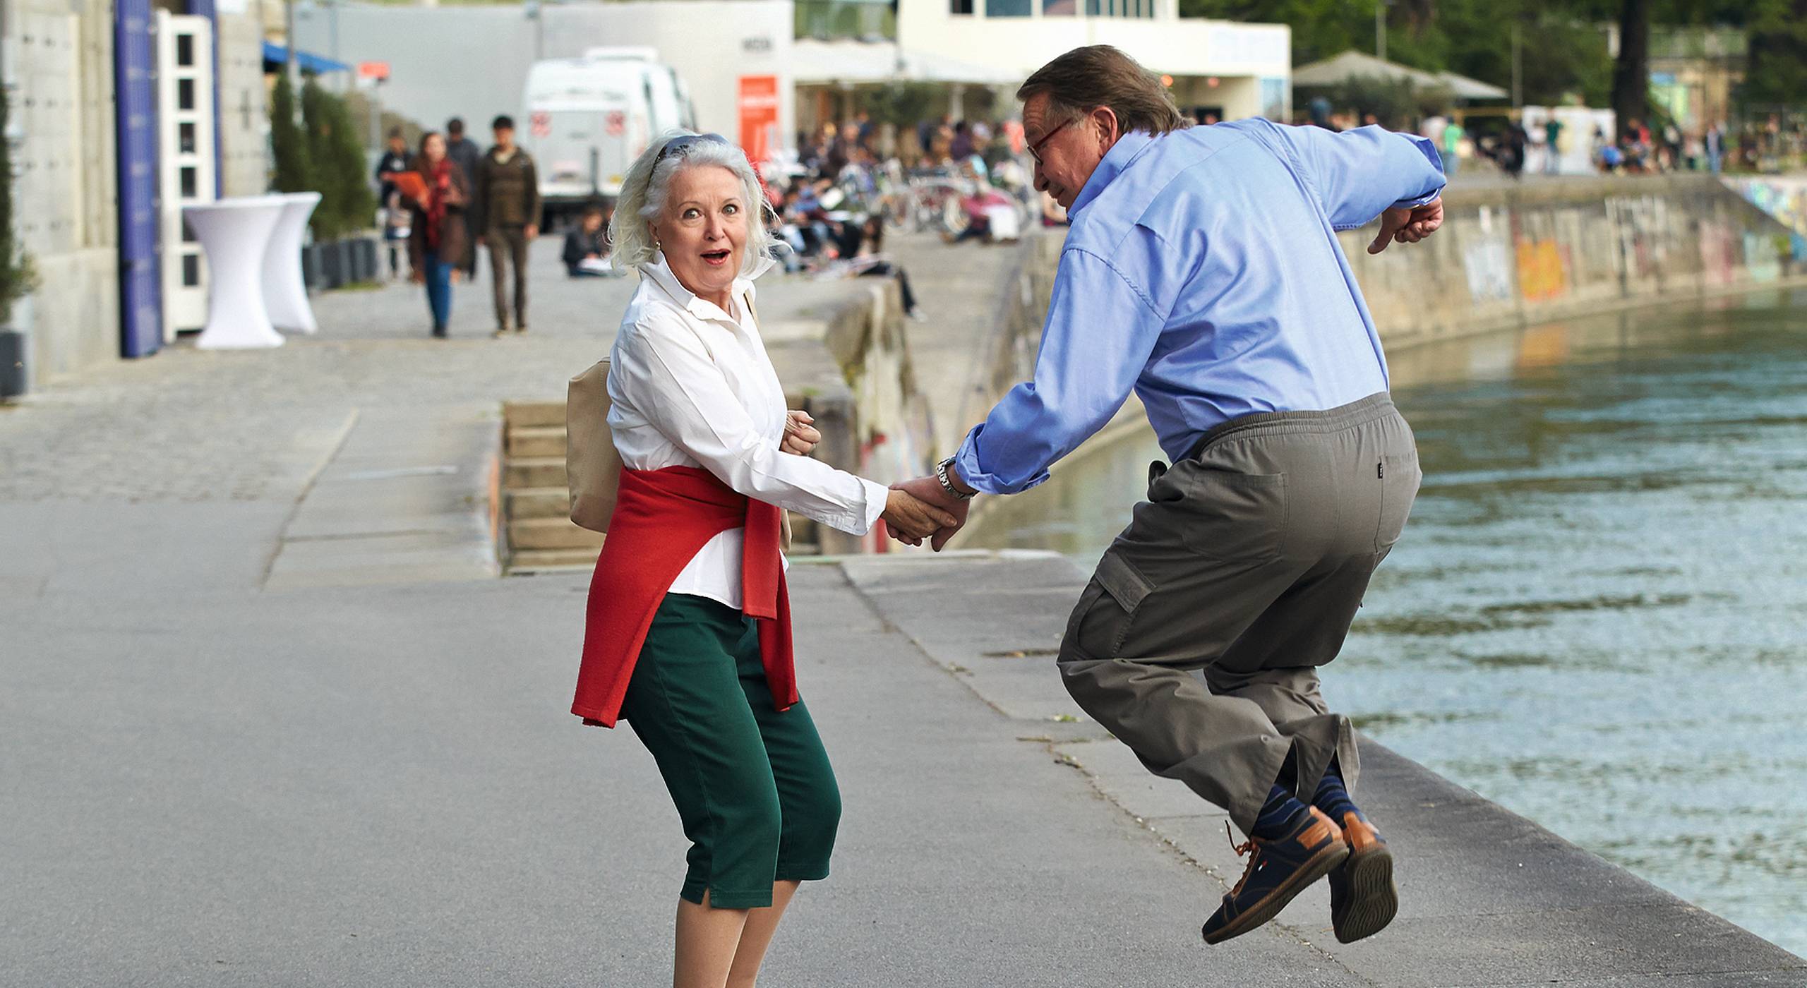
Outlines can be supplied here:
[[[1411, 426], [1386, 394], [1245, 415], [1171, 470], [1153, 464], [1147, 502], [1066, 625], [1068, 692], [1243, 833], [1276, 782], [1310, 802], [1332, 757], [1353, 789], [1355, 739], [1325, 706], [1317, 666], [1343, 648], [1418, 479]], [[1288, 753], [1297, 777], [1279, 778]]]

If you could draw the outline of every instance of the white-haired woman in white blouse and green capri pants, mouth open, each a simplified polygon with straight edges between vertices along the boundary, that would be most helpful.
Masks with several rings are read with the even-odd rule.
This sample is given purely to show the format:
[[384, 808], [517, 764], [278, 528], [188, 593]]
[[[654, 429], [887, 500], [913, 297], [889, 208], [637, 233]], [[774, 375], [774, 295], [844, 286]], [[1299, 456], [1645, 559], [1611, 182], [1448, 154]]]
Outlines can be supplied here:
[[640, 273], [609, 372], [620, 500], [591, 580], [571, 712], [625, 719], [690, 838], [678, 988], [752, 986], [799, 881], [828, 876], [840, 793], [797, 695], [782, 511], [922, 538], [954, 518], [802, 453], [820, 439], [766, 358], [759, 179], [714, 134], [634, 161], [611, 233]]

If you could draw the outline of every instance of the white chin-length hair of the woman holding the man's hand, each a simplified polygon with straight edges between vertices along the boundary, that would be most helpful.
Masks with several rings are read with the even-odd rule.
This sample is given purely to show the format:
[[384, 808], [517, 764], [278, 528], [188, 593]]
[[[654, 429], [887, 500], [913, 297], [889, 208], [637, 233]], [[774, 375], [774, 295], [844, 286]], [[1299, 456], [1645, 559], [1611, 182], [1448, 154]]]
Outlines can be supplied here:
[[775, 217], [775, 213], [772, 211], [772, 204], [766, 202], [759, 175], [748, 164], [746, 152], [725, 139], [690, 141], [665, 161], [660, 161], [665, 144], [679, 137], [699, 137], [699, 134], [694, 130], [667, 130], [660, 134], [656, 141], [647, 144], [645, 152], [640, 152], [640, 157], [634, 159], [634, 164], [622, 179], [622, 197], [614, 204], [614, 219], [609, 220], [609, 240], [614, 244], [616, 266], [623, 269], [638, 267], [658, 256], [660, 251], [652, 242], [649, 224], [658, 220], [665, 211], [665, 193], [670, 188], [672, 175], [685, 168], [719, 164], [734, 172], [735, 179], [741, 179], [741, 195], [746, 200], [746, 210], [741, 211], [746, 217], [746, 249], [743, 251], [744, 256], [741, 256], [741, 275], [752, 275], [761, 260], [772, 256], [773, 244], [766, 217]]

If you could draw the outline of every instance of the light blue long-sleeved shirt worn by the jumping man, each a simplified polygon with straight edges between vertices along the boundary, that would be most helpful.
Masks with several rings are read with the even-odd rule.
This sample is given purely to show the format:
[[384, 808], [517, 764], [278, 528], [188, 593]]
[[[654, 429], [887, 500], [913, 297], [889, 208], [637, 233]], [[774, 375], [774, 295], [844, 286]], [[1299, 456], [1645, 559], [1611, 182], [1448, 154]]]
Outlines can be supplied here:
[[1124, 134], [1068, 210], [1035, 379], [967, 433], [956, 466], [1016, 493], [1142, 397], [1167, 457], [1254, 412], [1386, 390], [1386, 358], [1335, 231], [1442, 193], [1424, 137], [1245, 119]]

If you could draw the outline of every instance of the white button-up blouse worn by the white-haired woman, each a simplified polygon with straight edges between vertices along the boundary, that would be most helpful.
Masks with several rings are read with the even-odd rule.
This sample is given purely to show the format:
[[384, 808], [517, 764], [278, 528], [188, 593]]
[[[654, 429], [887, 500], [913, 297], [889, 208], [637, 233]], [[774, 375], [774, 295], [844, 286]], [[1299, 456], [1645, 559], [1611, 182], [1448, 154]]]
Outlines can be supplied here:
[[[885, 511], [889, 489], [822, 461], [779, 450], [784, 387], [746, 302], [766, 260], [735, 278], [734, 309], [692, 294], [665, 255], [640, 266], [609, 365], [609, 432], [629, 470], [699, 466], [735, 491], [851, 535]], [[741, 607], [743, 529], [710, 538], [672, 582]]]

